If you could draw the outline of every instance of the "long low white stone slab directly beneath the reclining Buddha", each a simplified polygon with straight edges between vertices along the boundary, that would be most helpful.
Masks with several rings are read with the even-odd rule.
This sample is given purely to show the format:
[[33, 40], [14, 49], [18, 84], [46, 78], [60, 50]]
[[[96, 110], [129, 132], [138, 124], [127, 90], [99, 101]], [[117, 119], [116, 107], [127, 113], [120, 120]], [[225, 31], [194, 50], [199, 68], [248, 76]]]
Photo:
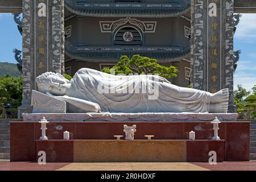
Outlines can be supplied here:
[[237, 121], [237, 113], [24, 113], [24, 121]]

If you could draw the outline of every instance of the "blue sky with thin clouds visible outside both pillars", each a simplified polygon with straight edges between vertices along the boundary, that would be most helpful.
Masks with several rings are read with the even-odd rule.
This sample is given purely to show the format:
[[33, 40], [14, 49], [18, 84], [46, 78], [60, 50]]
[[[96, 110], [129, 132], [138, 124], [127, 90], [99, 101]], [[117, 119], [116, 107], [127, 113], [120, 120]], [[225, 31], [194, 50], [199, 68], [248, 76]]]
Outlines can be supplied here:
[[[256, 85], [256, 14], [243, 14], [234, 37], [234, 50], [242, 54], [234, 73], [234, 89], [242, 84], [247, 90]], [[0, 13], [0, 62], [16, 63], [13, 49], [22, 49], [22, 36], [13, 15]]]

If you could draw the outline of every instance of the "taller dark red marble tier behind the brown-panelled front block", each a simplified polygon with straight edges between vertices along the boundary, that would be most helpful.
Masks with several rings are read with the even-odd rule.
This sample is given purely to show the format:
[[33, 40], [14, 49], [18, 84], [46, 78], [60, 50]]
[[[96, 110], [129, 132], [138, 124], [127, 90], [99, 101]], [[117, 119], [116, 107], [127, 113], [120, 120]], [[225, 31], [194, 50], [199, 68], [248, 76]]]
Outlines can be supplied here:
[[[123, 125], [137, 125], [135, 139], [145, 139], [144, 135], [155, 135], [154, 139], [188, 139], [189, 131], [196, 132], [196, 139], [209, 140], [213, 137], [210, 122], [49, 122], [46, 135], [49, 139], [63, 139], [63, 132], [69, 131], [71, 139], [115, 139], [114, 135], [124, 135]], [[57, 130], [56, 126], [62, 126]], [[219, 137], [224, 142], [224, 161], [249, 161], [250, 122], [222, 122]], [[60, 128], [60, 127], [59, 127]], [[36, 140], [41, 136], [38, 122], [10, 122], [10, 160], [35, 161]], [[194, 146], [196, 144], [193, 144]], [[197, 159], [196, 153], [189, 158]], [[203, 153], [202, 153], [203, 154]]]

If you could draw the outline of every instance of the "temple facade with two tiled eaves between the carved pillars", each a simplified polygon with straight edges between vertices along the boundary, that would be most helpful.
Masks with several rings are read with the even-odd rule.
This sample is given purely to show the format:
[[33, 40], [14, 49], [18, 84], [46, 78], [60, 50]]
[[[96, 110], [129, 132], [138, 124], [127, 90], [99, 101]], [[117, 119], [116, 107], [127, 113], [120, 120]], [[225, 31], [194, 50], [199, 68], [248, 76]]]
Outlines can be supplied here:
[[65, 1], [65, 73], [102, 71], [119, 57], [139, 54], [174, 65], [170, 81], [187, 87], [191, 79], [191, 1]]

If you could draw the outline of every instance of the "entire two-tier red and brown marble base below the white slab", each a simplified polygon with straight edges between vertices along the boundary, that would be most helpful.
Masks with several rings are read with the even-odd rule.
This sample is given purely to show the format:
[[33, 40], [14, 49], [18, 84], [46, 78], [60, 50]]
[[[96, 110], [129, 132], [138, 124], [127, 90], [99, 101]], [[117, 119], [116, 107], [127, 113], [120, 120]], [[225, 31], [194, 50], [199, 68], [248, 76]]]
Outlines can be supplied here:
[[[123, 125], [137, 125], [134, 140], [114, 137], [123, 135]], [[11, 162], [35, 161], [36, 150], [46, 151], [49, 162], [208, 162], [210, 151], [216, 151], [217, 159], [224, 158], [225, 161], [248, 161], [250, 156], [249, 121], [222, 121], [218, 135], [225, 142], [211, 140], [214, 134], [209, 121], [50, 121], [46, 130], [48, 140], [38, 140], [42, 135], [40, 127], [38, 121], [10, 122]], [[69, 140], [63, 140], [66, 130], [70, 134]], [[189, 140], [191, 130], [196, 133], [195, 140]], [[144, 135], [148, 134], [154, 135], [154, 139], [147, 140]]]

